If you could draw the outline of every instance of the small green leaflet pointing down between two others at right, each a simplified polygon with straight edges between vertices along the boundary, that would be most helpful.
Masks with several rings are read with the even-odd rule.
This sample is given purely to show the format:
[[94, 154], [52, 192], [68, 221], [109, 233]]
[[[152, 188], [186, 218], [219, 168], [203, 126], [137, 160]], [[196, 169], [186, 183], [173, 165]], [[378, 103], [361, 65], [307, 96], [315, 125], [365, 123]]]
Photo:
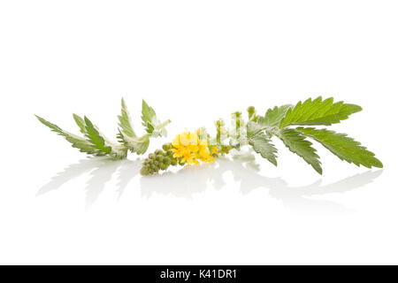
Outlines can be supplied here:
[[315, 171], [322, 174], [317, 150], [311, 147], [312, 143], [305, 140], [305, 136], [294, 129], [281, 129], [277, 135], [290, 151], [302, 157]]

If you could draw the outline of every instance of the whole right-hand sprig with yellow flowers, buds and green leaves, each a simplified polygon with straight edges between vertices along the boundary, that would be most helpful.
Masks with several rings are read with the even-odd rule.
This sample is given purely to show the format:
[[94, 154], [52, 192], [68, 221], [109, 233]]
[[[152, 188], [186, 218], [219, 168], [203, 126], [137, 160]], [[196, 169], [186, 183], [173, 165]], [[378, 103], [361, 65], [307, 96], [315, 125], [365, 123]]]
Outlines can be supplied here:
[[[225, 122], [216, 122], [216, 137], [210, 137], [204, 128], [196, 133], [182, 133], [175, 137], [172, 144], [164, 147], [172, 154], [166, 154], [166, 164], [149, 155], [142, 167], [142, 175], [149, 175], [166, 170], [170, 164], [199, 164], [199, 161], [210, 162], [219, 155], [228, 154], [231, 149], [251, 146], [256, 153], [272, 164], [277, 165], [277, 149], [271, 142], [273, 136], [278, 137], [290, 151], [302, 157], [319, 174], [322, 174], [321, 163], [317, 150], [308, 139], [321, 143], [341, 160], [365, 167], [383, 167], [374, 154], [361, 146], [360, 142], [347, 136], [337, 134], [328, 129], [313, 126], [331, 126], [348, 119], [348, 116], [362, 111], [355, 104], [343, 102], [333, 103], [333, 98], [323, 100], [308, 99], [304, 103], [274, 107], [265, 112], [264, 116], [256, 114], [253, 106], [248, 108], [248, 121], [242, 118], [241, 112], [232, 114], [232, 127], [226, 129]], [[311, 127], [303, 127], [311, 126]], [[166, 150], [166, 149], [165, 149]], [[159, 149], [157, 149], [159, 153]], [[172, 162], [168, 162], [168, 160]], [[163, 159], [162, 159], [163, 160]]]

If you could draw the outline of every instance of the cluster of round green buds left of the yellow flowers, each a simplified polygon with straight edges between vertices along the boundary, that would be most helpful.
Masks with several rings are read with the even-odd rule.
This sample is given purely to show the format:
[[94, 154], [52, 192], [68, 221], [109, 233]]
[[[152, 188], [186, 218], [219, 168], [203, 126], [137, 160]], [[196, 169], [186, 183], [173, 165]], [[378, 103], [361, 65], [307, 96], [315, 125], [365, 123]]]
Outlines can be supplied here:
[[143, 176], [151, 175], [160, 170], [167, 170], [170, 165], [177, 165], [178, 160], [172, 157], [172, 154], [171, 143], [166, 143], [163, 145], [163, 149], [157, 149], [154, 153], [150, 153], [148, 158], [142, 162], [141, 174]]

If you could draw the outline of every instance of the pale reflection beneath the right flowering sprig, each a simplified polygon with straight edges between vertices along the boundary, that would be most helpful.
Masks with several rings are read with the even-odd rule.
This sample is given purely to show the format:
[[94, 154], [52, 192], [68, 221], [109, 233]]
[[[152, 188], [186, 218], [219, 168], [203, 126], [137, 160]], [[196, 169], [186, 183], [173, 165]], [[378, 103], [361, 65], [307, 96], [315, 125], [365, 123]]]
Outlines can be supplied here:
[[319, 179], [308, 185], [295, 186], [283, 178], [267, 177], [259, 173], [259, 164], [250, 152], [242, 150], [231, 157], [220, 157], [214, 163], [196, 168], [184, 166], [178, 172], [164, 172], [151, 178], [142, 178], [142, 196], [150, 198], [153, 195], [172, 195], [193, 199], [209, 187], [216, 190], [231, 188], [226, 187], [231, 183], [228, 180], [231, 177], [239, 185], [242, 195], [265, 190], [272, 198], [292, 210], [348, 212], [349, 210], [340, 203], [323, 199], [323, 196], [342, 194], [363, 187], [376, 180], [382, 173], [382, 170], [369, 170], [330, 184], [323, 184]]

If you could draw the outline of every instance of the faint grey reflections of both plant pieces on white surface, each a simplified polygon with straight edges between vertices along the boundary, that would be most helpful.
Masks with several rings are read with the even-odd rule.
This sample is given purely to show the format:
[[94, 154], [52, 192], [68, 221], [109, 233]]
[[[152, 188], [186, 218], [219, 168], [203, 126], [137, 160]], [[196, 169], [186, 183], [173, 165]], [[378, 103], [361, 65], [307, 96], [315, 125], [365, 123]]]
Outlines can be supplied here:
[[[45, 184], [37, 192], [42, 195], [64, 185], [67, 181], [87, 174], [89, 179], [85, 187], [86, 207], [90, 207], [103, 192], [105, 184], [117, 172], [117, 191], [123, 195], [128, 183], [139, 174], [141, 160], [111, 160], [109, 158], [82, 159], [77, 164], [71, 164], [64, 171]], [[162, 175], [141, 177], [142, 197], [149, 198], [153, 194], [172, 195], [190, 199], [196, 193], [201, 193], [211, 184], [216, 189], [226, 186], [224, 174], [232, 172], [233, 180], [240, 182], [243, 195], [258, 189], [266, 188], [269, 195], [280, 200], [286, 207], [300, 211], [349, 211], [343, 205], [326, 200], [316, 200], [310, 197], [333, 193], [344, 193], [363, 187], [379, 177], [382, 170], [367, 171], [339, 180], [332, 184], [322, 185], [321, 180], [308, 186], [293, 187], [281, 178], [269, 178], [259, 174], [259, 164], [256, 164], [252, 154], [239, 155], [233, 160], [218, 158], [216, 163], [203, 164], [195, 167], [183, 167], [179, 172], [165, 172]]]

